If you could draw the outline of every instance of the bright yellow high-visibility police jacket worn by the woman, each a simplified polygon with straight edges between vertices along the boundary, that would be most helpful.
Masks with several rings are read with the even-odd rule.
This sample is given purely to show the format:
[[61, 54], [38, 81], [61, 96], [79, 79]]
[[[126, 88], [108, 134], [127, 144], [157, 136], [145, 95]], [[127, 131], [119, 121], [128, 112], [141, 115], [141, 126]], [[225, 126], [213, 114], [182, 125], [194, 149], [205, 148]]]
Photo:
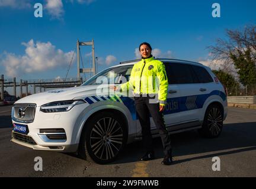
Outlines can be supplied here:
[[165, 105], [168, 90], [165, 66], [153, 57], [142, 58], [133, 66], [129, 82], [120, 87], [121, 91], [133, 89], [136, 94], [158, 94], [159, 103]]

